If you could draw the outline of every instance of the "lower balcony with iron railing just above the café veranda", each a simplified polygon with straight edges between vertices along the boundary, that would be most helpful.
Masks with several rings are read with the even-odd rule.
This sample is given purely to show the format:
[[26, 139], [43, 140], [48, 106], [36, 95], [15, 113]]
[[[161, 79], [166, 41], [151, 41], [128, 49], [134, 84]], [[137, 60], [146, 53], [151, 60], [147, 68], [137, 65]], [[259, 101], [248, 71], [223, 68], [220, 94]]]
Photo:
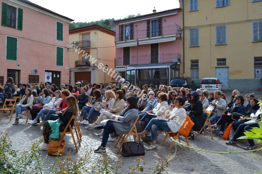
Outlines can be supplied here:
[[179, 53], [168, 53], [159, 55], [143, 55], [131, 57], [117, 57], [115, 58], [115, 66], [122, 65], [138, 65], [150, 63], [180, 63], [181, 55]]

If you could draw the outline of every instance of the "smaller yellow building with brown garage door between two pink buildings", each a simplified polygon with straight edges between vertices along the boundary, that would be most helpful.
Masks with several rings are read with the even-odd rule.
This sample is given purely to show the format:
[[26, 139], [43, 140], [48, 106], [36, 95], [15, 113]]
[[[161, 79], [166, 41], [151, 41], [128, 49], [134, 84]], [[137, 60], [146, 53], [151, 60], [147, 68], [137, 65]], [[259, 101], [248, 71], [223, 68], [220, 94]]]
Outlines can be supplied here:
[[69, 30], [69, 43], [74, 43], [69, 50], [70, 84], [112, 82], [102, 68], [107, 65], [108, 69], [114, 69], [114, 38], [114, 31], [99, 25]]

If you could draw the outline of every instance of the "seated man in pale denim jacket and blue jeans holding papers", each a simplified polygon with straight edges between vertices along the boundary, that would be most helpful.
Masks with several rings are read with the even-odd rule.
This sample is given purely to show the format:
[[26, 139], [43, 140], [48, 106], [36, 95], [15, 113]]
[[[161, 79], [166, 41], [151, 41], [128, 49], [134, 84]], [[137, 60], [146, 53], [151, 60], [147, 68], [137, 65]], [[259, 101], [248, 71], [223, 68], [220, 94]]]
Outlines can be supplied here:
[[[212, 114], [209, 117], [211, 123], [222, 116], [221, 114], [225, 112], [227, 106], [226, 100], [221, 98], [220, 91], [214, 92], [214, 98], [215, 100], [211, 101], [210, 103], [214, 107], [214, 110], [212, 111]], [[208, 125], [206, 125], [205, 128], [208, 128]]]

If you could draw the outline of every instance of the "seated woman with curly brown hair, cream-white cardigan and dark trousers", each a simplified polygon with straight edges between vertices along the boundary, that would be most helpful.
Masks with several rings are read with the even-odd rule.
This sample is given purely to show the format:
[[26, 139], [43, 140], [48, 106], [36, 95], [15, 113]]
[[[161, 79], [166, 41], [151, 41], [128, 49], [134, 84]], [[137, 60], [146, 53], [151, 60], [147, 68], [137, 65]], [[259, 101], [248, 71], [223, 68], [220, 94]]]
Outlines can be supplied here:
[[144, 123], [145, 127], [148, 125], [150, 120], [153, 119], [153, 118], [165, 119], [165, 117], [166, 117], [165, 111], [169, 110], [169, 106], [167, 104], [167, 94], [160, 93], [158, 95], [158, 102], [159, 103], [156, 105], [156, 107], [152, 111], [152, 113], [155, 114], [156, 116], [149, 115], [148, 113], [143, 115], [143, 117], [139, 116], [139, 117], [141, 117], [140, 121], [145, 122]]

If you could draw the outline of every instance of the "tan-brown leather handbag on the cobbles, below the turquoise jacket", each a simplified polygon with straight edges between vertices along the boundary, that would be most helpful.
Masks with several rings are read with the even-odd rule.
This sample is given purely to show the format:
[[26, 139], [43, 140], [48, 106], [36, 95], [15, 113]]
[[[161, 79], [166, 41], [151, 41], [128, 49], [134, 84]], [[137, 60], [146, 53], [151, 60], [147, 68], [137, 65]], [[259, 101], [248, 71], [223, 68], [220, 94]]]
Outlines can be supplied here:
[[48, 145], [48, 155], [64, 155], [65, 140], [51, 139]]

